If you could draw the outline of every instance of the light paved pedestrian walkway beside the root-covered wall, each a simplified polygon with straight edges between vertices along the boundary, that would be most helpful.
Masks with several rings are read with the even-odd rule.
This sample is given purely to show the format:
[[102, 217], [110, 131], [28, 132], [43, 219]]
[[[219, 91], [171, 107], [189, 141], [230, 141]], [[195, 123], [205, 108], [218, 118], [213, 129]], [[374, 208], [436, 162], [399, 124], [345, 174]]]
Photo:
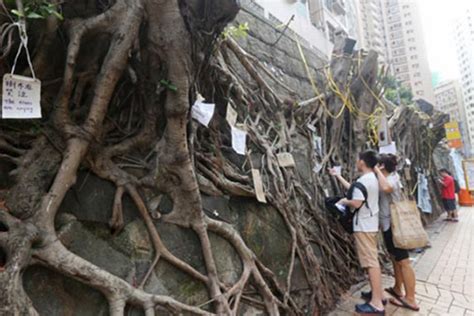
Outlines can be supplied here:
[[[458, 223], [452, 223], [443, 221], [443, 215], [430, 225], [427, 231], [431, 248], [411, 254], [420, 311], [389, 304], [386, 315], [474, 316], [474, 208], [462, 208], [459, 217]], [[384, 288], [392, 283], [393, 278], [384, 275]], [[354, 305], [362, 302], [361, 290], [368, 289], [366, 283], [354, 286], [329, 315], [357, 315]]]

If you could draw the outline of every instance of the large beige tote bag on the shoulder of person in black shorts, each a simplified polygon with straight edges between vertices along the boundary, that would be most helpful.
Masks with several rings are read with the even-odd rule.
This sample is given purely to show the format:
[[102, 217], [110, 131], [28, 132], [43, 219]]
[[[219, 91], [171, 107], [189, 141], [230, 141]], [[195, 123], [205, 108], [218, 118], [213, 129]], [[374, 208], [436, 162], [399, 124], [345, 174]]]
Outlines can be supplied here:
[[390, 204], [393, 244], [400, 249], [423, 248], [428, 244], [415, 201], [406, 196], [399, 202]]

